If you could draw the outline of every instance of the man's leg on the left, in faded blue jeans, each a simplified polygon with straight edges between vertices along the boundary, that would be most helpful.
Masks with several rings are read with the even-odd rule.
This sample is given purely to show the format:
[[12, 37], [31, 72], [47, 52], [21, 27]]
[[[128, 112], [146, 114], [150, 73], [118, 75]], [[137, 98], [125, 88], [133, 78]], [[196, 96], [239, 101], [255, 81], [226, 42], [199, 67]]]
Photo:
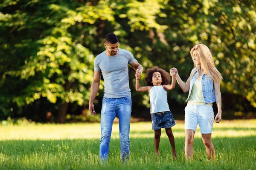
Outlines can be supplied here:
[[100, 160], [108, 160], [109, 142], [112, 132], [113, 121], [116, 117], [116, 99], [103, 98], [101, 111], [101, 139], [99, 143]]

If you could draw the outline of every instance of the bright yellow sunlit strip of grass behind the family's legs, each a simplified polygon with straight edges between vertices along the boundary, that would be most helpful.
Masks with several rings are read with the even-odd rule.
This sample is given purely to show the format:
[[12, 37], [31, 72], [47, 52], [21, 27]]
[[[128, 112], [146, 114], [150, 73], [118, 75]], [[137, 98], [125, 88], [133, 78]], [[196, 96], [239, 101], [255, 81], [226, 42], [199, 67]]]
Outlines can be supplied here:
[[[0, 126], [1, 127], [1, 126]], [[237, 137], [237, 136], [256, 136], [256, 120], [236, 120], [222, 121], [214, 123], [212, 137]], [[184, 124], [177, 123], [172, 127], [175, 137], [184, 137]], [[152, 138], [154, 130], [151, 130], [151, 122], [131, 123], [131, 138]], [[164, 130], [162, 129], [164, 132]], [[166, 137], [166, 136], [162, 136]], [[195, 137], [201, 137], [200, 128], [198, 126]], [[36, 125], [13, 125], [2, 126], [0, 140], [37, 140], [37, 139], [99, 139], [100, 124], [36, 124]], [[119, 124], [113, 124], [112, 139], [119, 139]], [[167, 138], [167, 137], [166, 137]]]

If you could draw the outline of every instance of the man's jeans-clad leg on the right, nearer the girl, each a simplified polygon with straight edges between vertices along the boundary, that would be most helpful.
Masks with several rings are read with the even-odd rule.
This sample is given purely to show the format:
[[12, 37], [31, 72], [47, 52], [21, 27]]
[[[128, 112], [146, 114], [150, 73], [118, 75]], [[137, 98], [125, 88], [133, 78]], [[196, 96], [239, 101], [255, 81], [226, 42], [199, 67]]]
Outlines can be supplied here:
[[121, 143], [122, 161], [129, 159], [130, 155], [130, 119], [131, 119], [131, 97], [119, 98], [116, 105], [116, 113], [119, 119], [119, 136]]

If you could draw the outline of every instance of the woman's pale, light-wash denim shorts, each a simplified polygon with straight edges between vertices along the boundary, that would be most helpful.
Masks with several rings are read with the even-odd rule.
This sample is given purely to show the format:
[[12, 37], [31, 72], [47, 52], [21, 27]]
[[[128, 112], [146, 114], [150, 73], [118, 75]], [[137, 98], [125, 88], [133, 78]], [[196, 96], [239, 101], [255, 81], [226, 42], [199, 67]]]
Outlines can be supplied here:
[[214, 113], [211, 105], [190, 105], [185, 108], [185, 130], [196, 130], [199, 123], [201, 133], [212, 133]]

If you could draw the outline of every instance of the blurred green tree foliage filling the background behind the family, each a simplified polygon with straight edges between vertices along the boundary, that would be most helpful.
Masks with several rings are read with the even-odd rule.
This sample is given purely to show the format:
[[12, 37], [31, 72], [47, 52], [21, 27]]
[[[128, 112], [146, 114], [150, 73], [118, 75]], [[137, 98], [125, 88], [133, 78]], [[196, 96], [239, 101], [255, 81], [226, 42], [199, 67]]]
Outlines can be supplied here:
[[[22, 116], [30, 107], [35, 115], [50, 111], [56, 116], [65, 102], [71, 111], [87, 105], [93, 59], [104, 51], [109, 32], [145, 69], [175, 67], [183, 81], [193, 67], [190, 49], [207, 45], [224, 77], [221, 92], [256, 108], [255, 8], [254, 1], [244, 0], [3, 0], [0, 118]], [[134, 90], [132, 69], [130, 77], [134, 102], [148, 108], [147, 94]], [[103, 92], [102, 82], [96, 108]], [[168, 97], [182, 104], [186, 96], [177, 87]], [[246, 111], [243, 102], [233, 109]]]

